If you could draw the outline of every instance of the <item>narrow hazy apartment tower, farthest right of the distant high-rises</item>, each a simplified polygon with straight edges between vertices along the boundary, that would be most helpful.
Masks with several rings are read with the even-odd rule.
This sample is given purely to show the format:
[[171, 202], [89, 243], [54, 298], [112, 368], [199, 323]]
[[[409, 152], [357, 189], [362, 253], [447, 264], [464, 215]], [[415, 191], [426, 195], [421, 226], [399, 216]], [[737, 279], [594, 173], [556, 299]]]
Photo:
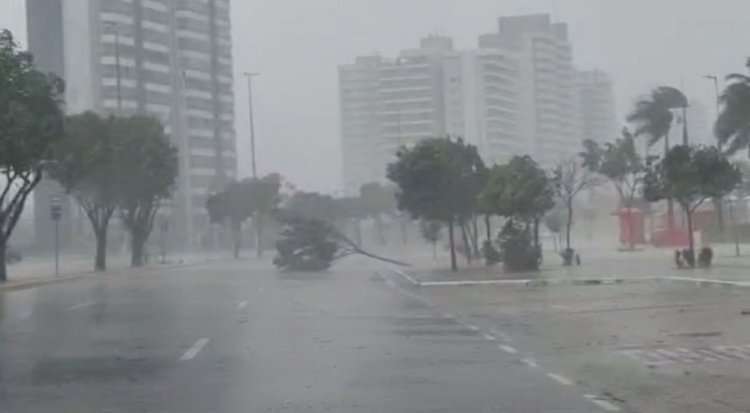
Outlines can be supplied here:
[[612, 79], [600, 70], [579, 71], [576, 88], [581, 110], [581, 139], [606, 142], [617, 138]]

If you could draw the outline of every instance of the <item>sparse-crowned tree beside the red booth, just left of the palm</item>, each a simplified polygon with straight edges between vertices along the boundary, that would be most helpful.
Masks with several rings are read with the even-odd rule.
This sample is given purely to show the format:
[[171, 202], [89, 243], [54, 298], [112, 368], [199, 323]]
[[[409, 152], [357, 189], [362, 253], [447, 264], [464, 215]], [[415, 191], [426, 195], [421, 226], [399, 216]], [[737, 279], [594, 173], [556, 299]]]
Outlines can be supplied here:
[[615, 187], [628, 219], [630, 249], [635, 249], [631, 211], [635, 207], [638, 190], [642, 187], [646, 167], [635, 148], [633, 134], [623, 129], [621, 138], [606, 143], [604, 147], [591, 140], [584, 141], [583, 146], [583, 166], [604, 176]]

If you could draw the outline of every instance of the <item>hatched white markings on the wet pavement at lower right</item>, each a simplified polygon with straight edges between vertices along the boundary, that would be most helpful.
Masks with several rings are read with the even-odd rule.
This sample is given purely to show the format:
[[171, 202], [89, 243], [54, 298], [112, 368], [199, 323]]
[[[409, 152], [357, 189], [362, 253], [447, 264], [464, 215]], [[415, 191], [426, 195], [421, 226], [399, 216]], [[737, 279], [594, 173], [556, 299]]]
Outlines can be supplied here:
[[639, 363], [663, 366], [679, 363], [707, 363], [719, 361], [750, 360], [750, 344], [737, 346], [712, 346], [696, 349], [684, 347], [658, 349], [628, 349], [619, 351]]

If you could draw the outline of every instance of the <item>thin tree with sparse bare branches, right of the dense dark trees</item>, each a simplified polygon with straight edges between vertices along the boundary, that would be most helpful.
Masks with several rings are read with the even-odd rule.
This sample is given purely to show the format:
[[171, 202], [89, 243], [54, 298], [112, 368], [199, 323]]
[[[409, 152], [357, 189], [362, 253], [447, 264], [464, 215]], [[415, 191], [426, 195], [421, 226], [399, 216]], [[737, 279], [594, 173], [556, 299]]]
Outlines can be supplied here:
[[555, 193], [562, 202], [567, 216], [565, 217], [565, 264], [572, 263], [572, 249], [570, 247], [570, 232], [573, 227], [573, 206], [575, 198], [581, 192], [599, 185], [600, 179], [588, 168], [583, 166], [580, 157], [573, 157], [563, 161], [555, 168], [553, 183]]

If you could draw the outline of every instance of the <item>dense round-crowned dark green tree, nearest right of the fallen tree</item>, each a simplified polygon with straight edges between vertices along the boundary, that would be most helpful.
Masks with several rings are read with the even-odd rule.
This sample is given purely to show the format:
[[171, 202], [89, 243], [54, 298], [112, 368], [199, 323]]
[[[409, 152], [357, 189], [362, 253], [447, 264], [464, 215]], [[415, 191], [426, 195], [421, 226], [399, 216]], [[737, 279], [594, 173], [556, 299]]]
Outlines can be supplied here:
[[453, 271], [458, 270], [455, 225], [463, 228], [476, 211], [479, 188], [475, 182], [482, 168], [476, 147], [449, 138], [426, 139], [411, 148], [401, 148], [396, 161], [388, 165], [388, 178], [399, 188], [399, 209], [415, 219], [448, 226]]

